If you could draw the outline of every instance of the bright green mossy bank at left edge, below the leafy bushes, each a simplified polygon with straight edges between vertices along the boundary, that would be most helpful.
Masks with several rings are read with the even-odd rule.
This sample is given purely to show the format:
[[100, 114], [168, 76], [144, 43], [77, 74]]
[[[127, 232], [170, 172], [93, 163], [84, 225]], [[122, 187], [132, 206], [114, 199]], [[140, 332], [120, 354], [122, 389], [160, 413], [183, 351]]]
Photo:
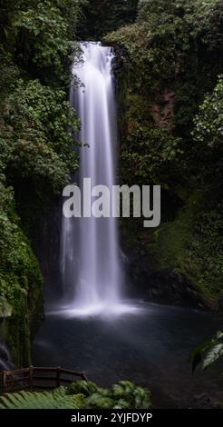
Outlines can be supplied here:
[[31, 244], [15, 213], [12, 191], [1, 185], [1, 196], [1, 335], [10, 348], [13, 362], [24, 366], [31, 361], [31, 323], [36, 312], [39, 315], [43, 313], [43, 278]]

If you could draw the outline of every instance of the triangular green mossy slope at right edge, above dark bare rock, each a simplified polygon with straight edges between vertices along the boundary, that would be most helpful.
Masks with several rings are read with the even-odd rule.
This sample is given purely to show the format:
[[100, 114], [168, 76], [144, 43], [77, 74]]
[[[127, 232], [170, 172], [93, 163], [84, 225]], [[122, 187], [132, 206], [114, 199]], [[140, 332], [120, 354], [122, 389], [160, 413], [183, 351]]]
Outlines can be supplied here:
[[[211, 211], [207, 211], [207, 206], [206, 212], [202, 211], [204, 199], [203, 191], [192, 194], [174, 221], [162, 223], [158, 230], [150, 233], [146, 248], [161, 269], [186, 275], [199, 293], [218, 301], [223, 295], [222, 261], [218, 253], [220, 234], [216, 218], [211, 220]], [[203, 212], [202, 219], [200, 212]]]

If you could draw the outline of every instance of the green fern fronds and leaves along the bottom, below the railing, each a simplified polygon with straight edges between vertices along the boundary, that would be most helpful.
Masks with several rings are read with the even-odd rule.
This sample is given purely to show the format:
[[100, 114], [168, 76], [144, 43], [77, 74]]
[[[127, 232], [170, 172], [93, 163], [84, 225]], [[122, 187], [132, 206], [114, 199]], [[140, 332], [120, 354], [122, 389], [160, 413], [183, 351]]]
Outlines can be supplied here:
[[150, 392], [132, 382], [110, 390], [92, 382], [73, 382], [53, 392], [17, 392], [0, 397], [0, 409], [148, 409]]

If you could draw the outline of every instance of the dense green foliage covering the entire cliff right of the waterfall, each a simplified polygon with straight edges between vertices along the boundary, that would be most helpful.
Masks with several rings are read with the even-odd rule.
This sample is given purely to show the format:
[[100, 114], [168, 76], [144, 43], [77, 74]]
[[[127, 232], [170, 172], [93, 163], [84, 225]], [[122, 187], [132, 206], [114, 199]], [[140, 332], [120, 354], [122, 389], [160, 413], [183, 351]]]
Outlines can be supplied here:
[[123, 240], [220, 303], [222, 1], [141, 0], [105, 41], [120, 57], [121, 182], [163, 192], [160, 228], [124, 224]]

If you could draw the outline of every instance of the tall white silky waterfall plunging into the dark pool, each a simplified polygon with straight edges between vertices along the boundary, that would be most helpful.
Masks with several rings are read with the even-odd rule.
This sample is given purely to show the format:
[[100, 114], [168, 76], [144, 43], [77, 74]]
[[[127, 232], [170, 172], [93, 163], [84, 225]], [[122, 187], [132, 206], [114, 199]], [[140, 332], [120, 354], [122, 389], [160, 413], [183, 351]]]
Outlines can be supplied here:
[[[71, 104], [82, 122], [78, 184], [91, 178], [92, 187], [115, 184], [116, 108], [111, 47], [82, 44], [82, 63], [73, 75], [82, 83], [71, 89]], [[95, 199], [92, 198], [92, 202]], [[109, 218], [63, 218], [63, 292], [73, 307], [90, 313], [121, 306], [121, 265], [117, 221]]]

